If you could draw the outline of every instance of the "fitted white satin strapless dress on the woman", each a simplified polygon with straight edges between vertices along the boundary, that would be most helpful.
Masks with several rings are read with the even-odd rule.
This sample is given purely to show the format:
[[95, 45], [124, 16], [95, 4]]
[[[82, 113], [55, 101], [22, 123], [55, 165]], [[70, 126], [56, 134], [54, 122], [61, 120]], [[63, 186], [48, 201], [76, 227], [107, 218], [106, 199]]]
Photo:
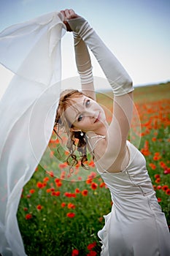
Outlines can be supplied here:
[[112, 195], [112, 211], [98, 231], [102, 256], [169, 256], [166, 218], [141, 152], [127, 141], [130, 160], [120, 173], [100, 173]]

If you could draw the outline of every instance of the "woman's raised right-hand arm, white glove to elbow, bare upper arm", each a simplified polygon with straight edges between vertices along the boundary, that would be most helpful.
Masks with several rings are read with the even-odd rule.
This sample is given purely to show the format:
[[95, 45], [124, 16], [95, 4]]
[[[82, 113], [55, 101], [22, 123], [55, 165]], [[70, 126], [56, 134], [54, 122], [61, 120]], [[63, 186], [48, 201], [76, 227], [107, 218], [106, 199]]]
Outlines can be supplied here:
[[87, 20], [77, 16], [67, 21], [71, 30], [77, 32], [93, 52], [112, 86], [114, 115], [108, 130], [107, 155], [108, 159], [111, 157], [109, 154], [112, 154], [115, 162], [121, 162], [127, 152], [126, 140], [133, 110], [132, 80], [114, 54], [90, 27]]

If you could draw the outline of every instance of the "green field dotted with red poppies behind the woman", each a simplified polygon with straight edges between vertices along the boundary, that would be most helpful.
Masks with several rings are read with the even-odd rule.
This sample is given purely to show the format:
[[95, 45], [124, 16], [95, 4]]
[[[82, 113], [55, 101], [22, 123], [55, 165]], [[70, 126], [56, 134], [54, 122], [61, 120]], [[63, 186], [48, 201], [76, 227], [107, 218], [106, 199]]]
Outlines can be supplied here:
[[[112, 93], [98, 94], [107, 119]], [[134, 117], [129, 140], [144, 154], [147, 170], [170, 227], [170, 83], [134, 91]], [[23, 187], [18, 225], [28, 256], [96, 256], [101, 244], [97, 233], [112, 201], [93, 159], [88, 169], [78, 163], [69, 170], [66, 138], [53, 134], [31, 180]]]

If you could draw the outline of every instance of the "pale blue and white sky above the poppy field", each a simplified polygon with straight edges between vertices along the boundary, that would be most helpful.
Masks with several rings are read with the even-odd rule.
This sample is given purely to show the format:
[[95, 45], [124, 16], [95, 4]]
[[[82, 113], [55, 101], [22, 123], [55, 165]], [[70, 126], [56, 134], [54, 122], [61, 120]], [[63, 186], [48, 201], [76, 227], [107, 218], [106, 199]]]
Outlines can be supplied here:
[[[0, 31], [66, 8], [88, 20], [131, 75], [134, 86], [170, 80], [169, 0], [0, 0]], [[61, 47], [62, 79], [67, 80], [77, 76], [72, 33], [64, 35]], [[104, 78], [91, 58], [93, 75]], [[12, 75], [0, 66], [0, 77], [1, 97]]]

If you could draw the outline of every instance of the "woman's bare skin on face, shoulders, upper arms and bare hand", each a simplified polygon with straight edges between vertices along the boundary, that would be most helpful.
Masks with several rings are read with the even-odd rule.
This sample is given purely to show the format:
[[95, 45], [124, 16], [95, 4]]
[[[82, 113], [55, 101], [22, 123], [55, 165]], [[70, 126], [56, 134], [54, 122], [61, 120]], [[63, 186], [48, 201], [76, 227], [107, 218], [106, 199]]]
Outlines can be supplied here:
[[[66, 20], [79, 15], [74, 10], [63, 10], [61, 13], [67, 30], [72, 31]], [[126, 140], [133, 111], [133, 92], [114, 97], [114, 113], [111, 123], [108, 124], [103, 108], [96, 102], [93, 83], [83, 84], [82, 91], [85, 96], [74, 99], [76, 103], [66, 109], [66, 118], [72, 123], [72, 129], [86, 132], [90, 138], [104, 135], [105, 138], [99, 140], [94, 149], [96, 167], [101, 172], [120, 172], [129, 162]], [[93, 146], [96, 140], [91, 138], [90, 144]]]

